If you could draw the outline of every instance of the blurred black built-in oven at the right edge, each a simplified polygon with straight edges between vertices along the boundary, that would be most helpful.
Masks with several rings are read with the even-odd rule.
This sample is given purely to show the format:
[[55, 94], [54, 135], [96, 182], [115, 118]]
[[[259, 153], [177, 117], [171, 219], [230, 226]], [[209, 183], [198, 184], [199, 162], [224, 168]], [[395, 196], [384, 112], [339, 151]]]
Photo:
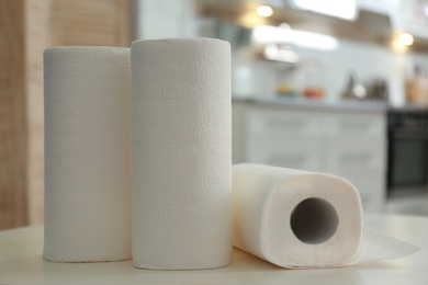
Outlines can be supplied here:
[[388, 196], [428, 190], [428, 112], [388, 113]]

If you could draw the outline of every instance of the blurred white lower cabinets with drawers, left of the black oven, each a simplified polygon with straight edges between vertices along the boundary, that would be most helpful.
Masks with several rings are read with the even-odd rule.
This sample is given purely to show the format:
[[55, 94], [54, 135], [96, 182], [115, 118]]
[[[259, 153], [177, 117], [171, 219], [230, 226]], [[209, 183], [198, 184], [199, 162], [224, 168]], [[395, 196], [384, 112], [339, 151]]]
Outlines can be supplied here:
[[364, 210], [383, 210], [385, 109], [240, 100], [233, 111], [234, 163], [336, 174], [357, 186]]

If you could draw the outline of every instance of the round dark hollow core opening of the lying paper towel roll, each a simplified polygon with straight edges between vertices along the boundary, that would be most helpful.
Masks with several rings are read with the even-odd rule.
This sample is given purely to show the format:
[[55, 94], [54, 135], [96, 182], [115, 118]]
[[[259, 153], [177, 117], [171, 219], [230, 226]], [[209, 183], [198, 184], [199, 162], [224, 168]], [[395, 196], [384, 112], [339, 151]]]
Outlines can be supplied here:
[[339, 217], [328, 201], [311, 197], [294, 207], [290, 225], [299, 240], [308, 244], [319, 244], [335, 235]]

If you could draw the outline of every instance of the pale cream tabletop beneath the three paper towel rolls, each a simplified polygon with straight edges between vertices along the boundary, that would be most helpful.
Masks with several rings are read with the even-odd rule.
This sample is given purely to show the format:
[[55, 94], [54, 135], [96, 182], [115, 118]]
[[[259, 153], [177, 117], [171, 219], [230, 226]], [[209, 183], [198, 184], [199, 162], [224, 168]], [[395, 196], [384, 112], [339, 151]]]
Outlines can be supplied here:
[[44, 261], [43, 226], [36, 226], [0, 231], [0, 284], [428, 284], [428, 217], [369, 215], [364, 225], [420, 249], [398, 260], [317, 270], [285, 270], [234, 249], [223, 269], [150, 271], [131, 261]]

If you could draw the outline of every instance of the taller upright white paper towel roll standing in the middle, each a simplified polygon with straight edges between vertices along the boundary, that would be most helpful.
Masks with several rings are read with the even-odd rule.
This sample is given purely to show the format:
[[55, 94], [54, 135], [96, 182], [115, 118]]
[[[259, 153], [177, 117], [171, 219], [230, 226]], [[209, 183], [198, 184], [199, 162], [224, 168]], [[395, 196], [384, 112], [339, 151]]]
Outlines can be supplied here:
[[230, 46], [134, 42], [133, 259], [158, 270], [232, 260]]

